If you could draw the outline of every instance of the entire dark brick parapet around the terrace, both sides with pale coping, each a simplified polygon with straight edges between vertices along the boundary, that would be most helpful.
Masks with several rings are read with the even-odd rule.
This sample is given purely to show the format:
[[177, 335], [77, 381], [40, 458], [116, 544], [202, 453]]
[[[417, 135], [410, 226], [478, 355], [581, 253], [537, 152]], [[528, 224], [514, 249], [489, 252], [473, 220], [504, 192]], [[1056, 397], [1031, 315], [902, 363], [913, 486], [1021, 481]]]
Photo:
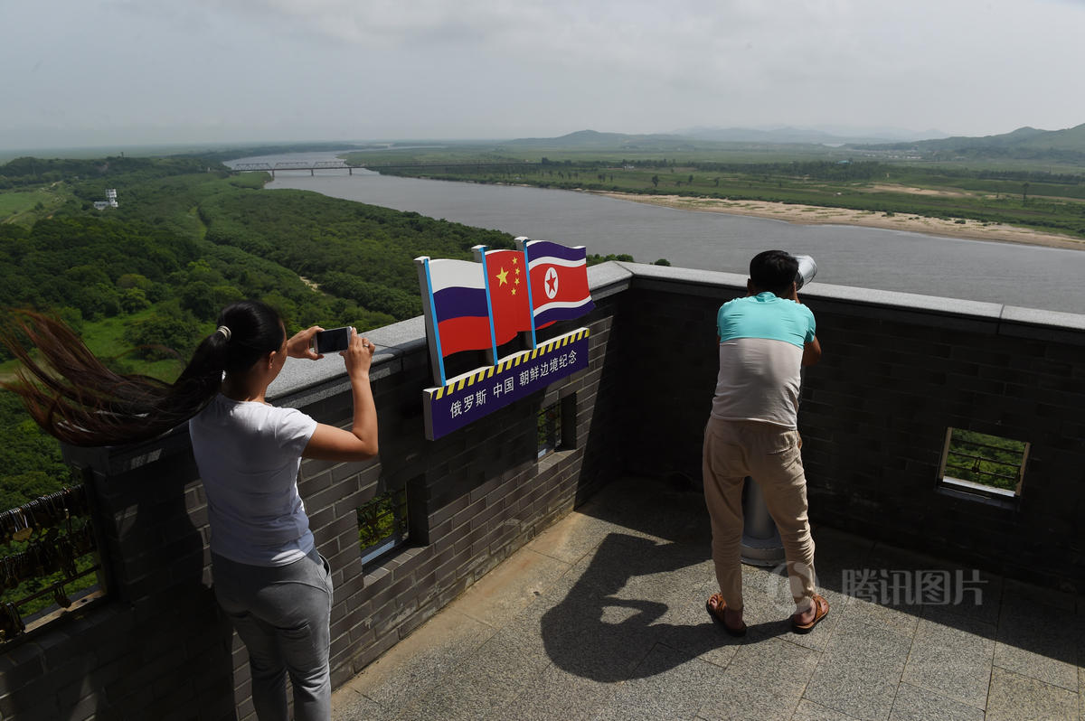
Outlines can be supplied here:
[[[744, 294], [745, 278], [604, 263], [589, 281], [588, 369], [436, 441], [423, 436], [421, 319], [368, 334], [379, 346], [381, 455], [306, 461], [299, 481], [333, 568], [333, 684], [600, 485], [628, 473], [699, 479], [715, 312]], [[803, 298], [825, 349], [800, 413], [812, 517], [1009, 576], [1080, 583], [1085, 318], [820, 283]], [[288, 362], [269, 395], [349, 422], [335, 357]], [[540, 459], [537, 417], [552, 405], [565, 443]], [[1021, 497], [996, 503], [941, 487], [947, 427], [1030, 441]], [[187, 434], [66, 451], [95, 500], [107, 595], [3, 648], [0, 716], [252, 718], [244, 647], [210, 590], [206, 501]], [[399, 489], [409, 538], [363, 566], [355, 510]]]

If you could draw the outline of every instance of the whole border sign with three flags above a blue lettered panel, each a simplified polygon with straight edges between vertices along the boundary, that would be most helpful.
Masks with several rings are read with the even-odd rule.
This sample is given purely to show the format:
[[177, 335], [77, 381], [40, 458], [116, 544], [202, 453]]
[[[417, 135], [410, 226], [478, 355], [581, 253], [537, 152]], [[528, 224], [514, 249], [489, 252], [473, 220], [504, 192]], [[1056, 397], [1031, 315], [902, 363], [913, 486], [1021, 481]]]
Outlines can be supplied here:
[[[582, 333], [575, 352], [571, 348], [571, 352], [552, 358], [554, 348], [561, 346], [554, 346], [556, 339], [539, 347], [535, 331], [579, 318], [595, 307], [588, 288], [587, 252], [583, 245], [567, 247], [526, 237], [518, 237], [516, 245], [516, 250], [487, 250], [477, 245], [473, 248], [476, 262], [425, 256], [414, 259], [437, 384], [425, 390], [430, 439], [586, 366], [586, 329], [561, 336], [567, 345], [570, 336]], [[520, 333], [531, 334], [531, 349], [498, 360], [498, 346], [514, 340]], [[464, 350], [488, 350], [492, 365], [447, 381], [445, 359]], [[526, 375], [508, 375], [510, 369], [528, 361], [532, 366], [525, 369]], [[492, 388], [488, 394], [476, 389], [470, 400], [464, 396], [459, 404], [449, 401], [454, 387], [458, 386], [459, 392], [482, 375], [487, 379], [500, 375], [500, 389]]]

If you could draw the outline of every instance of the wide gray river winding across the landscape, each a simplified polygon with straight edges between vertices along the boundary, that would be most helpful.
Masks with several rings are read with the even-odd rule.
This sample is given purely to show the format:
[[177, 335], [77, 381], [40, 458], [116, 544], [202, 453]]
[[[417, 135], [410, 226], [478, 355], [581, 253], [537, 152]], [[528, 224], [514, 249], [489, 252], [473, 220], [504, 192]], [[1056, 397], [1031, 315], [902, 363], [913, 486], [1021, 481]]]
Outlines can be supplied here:
[[[237, 163], [334, 159], [297, 153]], [[355, 170], [278, 171], [269, 189], [309, 190], [424, 216], [626, 253], [639, 261], [745, 273], [750, 258], [778, 247], [814, 256], [815, 283], [965, 298], [1085, 314], [1085, 252], [941, 237], [852, 226], [698, 213], [589, 193], [419, 180]]]

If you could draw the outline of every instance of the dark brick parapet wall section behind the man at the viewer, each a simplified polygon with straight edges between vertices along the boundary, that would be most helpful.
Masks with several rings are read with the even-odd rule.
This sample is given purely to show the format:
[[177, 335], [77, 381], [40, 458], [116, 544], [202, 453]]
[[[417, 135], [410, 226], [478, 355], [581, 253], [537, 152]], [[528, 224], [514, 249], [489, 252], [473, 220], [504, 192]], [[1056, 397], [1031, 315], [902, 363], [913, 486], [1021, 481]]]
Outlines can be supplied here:
[[[715, 314], [744, 282], [638, 269], [620, 309], [637, 309], [624, 333], [646, 347], [624, 386], [646, 388], [630, 467], [699, 479]], [[818, 283], [803, 297], [825, 353], [799, 421], [812, 520], [1085, 591], [1085, 317]], [[1018, 501], [940, 488], [948, 427], [1032, 445]]]

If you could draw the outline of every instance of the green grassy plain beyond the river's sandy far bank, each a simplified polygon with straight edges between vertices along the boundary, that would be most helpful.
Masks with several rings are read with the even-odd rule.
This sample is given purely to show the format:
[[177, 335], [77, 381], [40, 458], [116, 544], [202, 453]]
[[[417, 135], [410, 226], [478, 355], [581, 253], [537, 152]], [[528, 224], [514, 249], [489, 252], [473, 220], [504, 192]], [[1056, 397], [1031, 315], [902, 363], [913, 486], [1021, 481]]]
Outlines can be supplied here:
[[[881, 154], [884, 158], [885, 155]], [[388, 175], [649, 195], [768, 201], [1004, 223], [1085, 237], [1085, 173], [1006, 162], [886, 162], [854, 150], [779, 145], [644, 152], [445, 146], [356, 153]], [[395, 164], [401, 164], [398, 167]]]

